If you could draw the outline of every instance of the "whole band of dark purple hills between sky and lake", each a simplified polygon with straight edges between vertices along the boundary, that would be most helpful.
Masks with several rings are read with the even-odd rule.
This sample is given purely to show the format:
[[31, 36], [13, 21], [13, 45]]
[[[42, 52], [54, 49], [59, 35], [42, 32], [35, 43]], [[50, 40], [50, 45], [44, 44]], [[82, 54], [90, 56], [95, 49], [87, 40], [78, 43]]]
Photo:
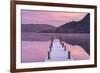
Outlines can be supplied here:
[[88, 13], [82, 20], [65, 23], [56, 28], [47, 24], [22, 24], [22, 32], [38, 33], [89, 33], [90, 32], [90, 14]]

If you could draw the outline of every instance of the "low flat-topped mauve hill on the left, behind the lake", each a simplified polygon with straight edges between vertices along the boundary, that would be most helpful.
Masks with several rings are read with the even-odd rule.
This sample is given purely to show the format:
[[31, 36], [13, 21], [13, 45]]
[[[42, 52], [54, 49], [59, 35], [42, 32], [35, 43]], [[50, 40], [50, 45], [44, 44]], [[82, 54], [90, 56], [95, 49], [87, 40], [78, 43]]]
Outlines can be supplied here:
[[56, 27], [47, 24], [22, 24], [21, 32], [49, 32], [55, 31]]

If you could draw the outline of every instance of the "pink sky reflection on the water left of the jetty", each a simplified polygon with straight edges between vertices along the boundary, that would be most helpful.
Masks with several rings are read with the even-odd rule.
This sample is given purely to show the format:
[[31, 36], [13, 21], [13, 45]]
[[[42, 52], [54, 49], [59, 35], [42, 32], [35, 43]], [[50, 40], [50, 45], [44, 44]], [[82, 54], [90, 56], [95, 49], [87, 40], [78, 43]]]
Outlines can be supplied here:
[[[37, 45], [38, 44], [38, 45]], [[30, 42], [22, 41], [22, 63], [43, 62], [46, 59], [50, 41]]]

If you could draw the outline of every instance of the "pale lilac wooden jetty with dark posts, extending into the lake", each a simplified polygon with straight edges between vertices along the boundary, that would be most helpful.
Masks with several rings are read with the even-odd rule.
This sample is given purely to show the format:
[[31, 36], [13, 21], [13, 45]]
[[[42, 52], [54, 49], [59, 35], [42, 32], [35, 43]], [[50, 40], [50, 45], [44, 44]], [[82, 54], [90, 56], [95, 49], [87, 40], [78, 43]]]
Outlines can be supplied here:
[[48, 56], [46, 61], [66, 61], [71, 60], [70, 51], [62, 43], [60, 38], [51, 40], [50, 49], [48, 50]]

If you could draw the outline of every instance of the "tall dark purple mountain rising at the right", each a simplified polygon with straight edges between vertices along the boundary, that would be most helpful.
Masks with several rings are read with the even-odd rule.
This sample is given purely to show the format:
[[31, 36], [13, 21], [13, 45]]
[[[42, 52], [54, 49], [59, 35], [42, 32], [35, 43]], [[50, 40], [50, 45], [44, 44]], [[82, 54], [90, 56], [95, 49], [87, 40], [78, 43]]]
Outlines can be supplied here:
[[82, 20], [65, 23], [56, 29], [57, 33], [89, 33], [90, 32], [90, 14], [88, 13]]

